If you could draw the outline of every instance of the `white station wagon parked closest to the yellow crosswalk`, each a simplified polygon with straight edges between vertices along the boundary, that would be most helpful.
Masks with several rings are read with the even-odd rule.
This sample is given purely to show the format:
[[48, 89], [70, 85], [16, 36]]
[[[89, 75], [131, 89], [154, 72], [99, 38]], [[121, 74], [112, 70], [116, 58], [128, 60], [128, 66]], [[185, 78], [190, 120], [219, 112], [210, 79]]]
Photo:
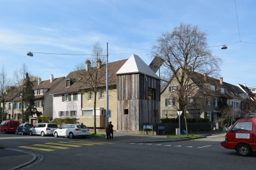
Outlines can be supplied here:
[[54, 136], [57, 137], [84, 137], [87, 138], [90, 133], [86, 125], [67, 124], [54, 131]]

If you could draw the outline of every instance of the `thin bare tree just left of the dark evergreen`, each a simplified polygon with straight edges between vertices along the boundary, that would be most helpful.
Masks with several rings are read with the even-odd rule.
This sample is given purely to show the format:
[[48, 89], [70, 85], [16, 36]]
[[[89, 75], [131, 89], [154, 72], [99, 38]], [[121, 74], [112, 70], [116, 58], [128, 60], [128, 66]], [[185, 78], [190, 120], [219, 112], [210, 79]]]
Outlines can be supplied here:
[[24, 84], [26, 80], [26, 73], [28, 72], [28, 67], [26, 64], [22, 64], [22, 67], [18, 70], [16, 69], [13, 73], [13, 81], [18, 89], [19, 96], [21, 98], [22, 106], [22, 123], [24, 123]]

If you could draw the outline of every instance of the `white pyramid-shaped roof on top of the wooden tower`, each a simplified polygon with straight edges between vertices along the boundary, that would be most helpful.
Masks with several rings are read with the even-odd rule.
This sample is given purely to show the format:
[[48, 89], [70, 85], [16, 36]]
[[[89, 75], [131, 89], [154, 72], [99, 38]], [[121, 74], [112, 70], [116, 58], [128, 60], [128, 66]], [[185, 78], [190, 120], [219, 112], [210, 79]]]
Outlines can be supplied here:
[[116, 72], [116, 74], [145, 74], [150, 77], [159, 79], [159, 76], [141, 60], [140, 56], [132, 54], [130, 58], [124, 63], [124, 65]]

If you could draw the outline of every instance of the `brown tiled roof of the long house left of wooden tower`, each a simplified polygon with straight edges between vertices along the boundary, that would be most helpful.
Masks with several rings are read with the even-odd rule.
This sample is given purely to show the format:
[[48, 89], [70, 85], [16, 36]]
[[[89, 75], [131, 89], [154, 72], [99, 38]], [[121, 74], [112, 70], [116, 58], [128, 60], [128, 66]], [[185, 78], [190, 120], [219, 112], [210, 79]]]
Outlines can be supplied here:
[[[109, 62], [108, 64], [108, 70], [109, 70], [109, 85], [116, 85], [116, 72], [122, 67], [122, 65], [126, 62], [125, 60], [118, 60], [116, 62]], [[101, 66], [102, 70], [106, 70], [106, 64], [103, 64]], [[68, 92], [78, 92], [81, 89], [87, 89], [89, 87], [85, 87], [84, 84], [79, 81], [79, 78], [77, 78], [76, 75], [77, 71], [70, 72], [68, 75], [66, 75], [66, 78], [59, 83], [59, 85], [51, 91], [51, 94], [57, 94], [57, 93], [68, 93]], [[102, 80], [105, 81], [106, 74], [103, 75]], [[78, 81], [74, 81], [70, 87], [66, 87], [66, 79], [78, 79]]]

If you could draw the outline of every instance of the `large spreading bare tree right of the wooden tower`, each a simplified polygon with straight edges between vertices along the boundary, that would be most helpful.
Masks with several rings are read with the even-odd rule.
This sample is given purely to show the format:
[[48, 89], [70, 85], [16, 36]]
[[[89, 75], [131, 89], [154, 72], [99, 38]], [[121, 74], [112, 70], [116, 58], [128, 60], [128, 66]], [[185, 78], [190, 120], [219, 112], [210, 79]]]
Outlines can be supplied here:
[[[176, 110], [182, 111], [186, 123], [186, 110], [190, 102], [188, 99], [194, 95], [195, 89], [205, 81], [203, 78], [196, 79], [191, 84], [195, 72], [215, 77], [220, 70], [221, 59], [213, 56], [207, 45], [207, 33], [201, 32], [198, 26], [183, 24], [174, 28], [172, 33], [162, 33], [157, 38], [158, 45], [152, 47], [152, 56], [163, 59], [162, 73], [175, 79], [178, 89], [175, 91], [177, 96]], [[180, 72], [177, 72], [180, 69]], [[187, 91], [190, 87], [190, 91]]]

